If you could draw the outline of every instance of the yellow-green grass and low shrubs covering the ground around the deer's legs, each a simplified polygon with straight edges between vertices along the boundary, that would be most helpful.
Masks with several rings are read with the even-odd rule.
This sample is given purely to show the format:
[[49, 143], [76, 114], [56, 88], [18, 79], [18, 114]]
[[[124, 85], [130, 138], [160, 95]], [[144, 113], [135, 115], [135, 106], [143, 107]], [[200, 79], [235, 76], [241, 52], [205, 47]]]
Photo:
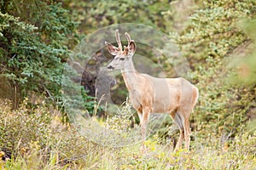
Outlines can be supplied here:
[[[61, 113], [27, 100], [14, 111], [9, 100], [0, 100], [0, 169], [255, 169], [256, 133], [241, 126], [234, 138], [220, 139], [211, 132], [200, 138], [193, 132], [189, 152], [174, 152], [154, 133], [146, 141], [124, 147], [96, 144], [73, 124], [61, 123]], [[123, 106], [119, 111], [128, 111]], [[126, 108], [125, 108], [126, 107]], [[115, 132], [132, 129], [130, 115], [118, 114], [99, 123]], [[95, 121], [101, 120], [94, 118]], [[126, 126], [126, 127], [125, 127]], [[92, 132], [96, 133], [96, 132]], [[171, 142], [172, 143], [172, 142]]]

